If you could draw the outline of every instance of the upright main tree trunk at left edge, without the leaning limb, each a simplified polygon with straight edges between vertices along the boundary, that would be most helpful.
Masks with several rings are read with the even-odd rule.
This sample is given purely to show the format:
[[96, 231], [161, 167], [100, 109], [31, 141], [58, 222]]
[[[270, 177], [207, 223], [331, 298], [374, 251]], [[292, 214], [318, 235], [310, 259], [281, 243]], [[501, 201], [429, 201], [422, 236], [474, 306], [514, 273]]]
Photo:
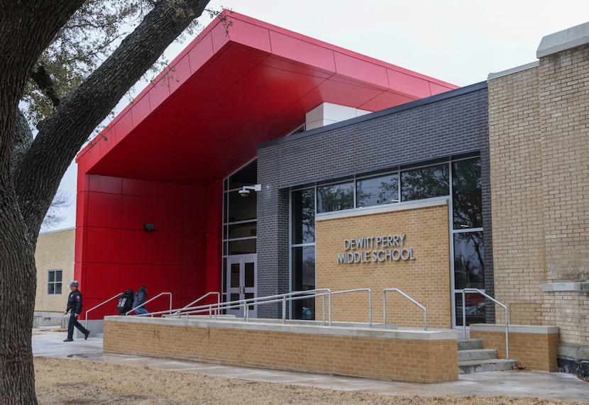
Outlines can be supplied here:
[[35, 248], [11, 169], [16, 109], [40, 52], [82, 3], [0, 2], [0, 404], [37, 404], [31, 348]]

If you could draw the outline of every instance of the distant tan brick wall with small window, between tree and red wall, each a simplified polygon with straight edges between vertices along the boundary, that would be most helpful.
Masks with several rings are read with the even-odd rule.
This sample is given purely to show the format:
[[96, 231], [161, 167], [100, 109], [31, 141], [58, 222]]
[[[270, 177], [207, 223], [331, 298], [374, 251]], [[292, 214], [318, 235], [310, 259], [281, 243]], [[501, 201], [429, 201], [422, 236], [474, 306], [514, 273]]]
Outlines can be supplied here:
[[[37, 240], [37, 290], [35, 311], [63, 312], [70, 289], [67, 283], [74, 276], [75, 229], [42, 233]], [[48, 295], [48, 271], [62, 270], [62, 294]], [[82, 290], [83, 291], [83, 290]]]

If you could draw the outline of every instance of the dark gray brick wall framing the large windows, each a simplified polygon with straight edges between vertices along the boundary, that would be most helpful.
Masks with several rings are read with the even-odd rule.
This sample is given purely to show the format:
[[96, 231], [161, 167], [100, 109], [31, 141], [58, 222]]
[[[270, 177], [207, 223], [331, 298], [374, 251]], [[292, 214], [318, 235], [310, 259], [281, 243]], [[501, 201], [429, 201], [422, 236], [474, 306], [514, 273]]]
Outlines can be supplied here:
[[[485, 288], [492, 292], [488, 98], [479, 83], [260, 145], [258, 294], [289, 291], [288, 187], [468, 152], [480, 152], [483, 166]], [[281, 311], [260, 306], [258, 316]]]

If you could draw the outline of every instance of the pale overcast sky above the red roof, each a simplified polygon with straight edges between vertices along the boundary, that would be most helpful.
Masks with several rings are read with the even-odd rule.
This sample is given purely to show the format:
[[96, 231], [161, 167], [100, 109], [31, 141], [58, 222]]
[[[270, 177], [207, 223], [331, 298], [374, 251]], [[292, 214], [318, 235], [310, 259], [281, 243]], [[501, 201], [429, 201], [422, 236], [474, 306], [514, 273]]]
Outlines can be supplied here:
[[[545, 35], [589, 22], [588, 0], [212, 0], [207, 7], [231, 9], [461, 87], [536, 61]], [[206, 26], [211, 19], [199, 21]], [[189, 40], [172, 44], [168, 59]], [[72, 163], [60, 187], [71, 201], [59, 212], [64, 221], [44, 232], [75, 226], [76, 172]]]

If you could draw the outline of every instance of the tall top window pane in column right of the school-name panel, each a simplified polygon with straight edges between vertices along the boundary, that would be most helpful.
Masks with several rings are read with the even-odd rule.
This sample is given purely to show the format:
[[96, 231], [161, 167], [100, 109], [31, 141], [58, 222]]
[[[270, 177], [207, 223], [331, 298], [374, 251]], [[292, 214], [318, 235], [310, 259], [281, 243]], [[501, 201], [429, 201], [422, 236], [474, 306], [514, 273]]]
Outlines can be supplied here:
[[454, 229], [483, 228], [480, 157], [452, 163]]

